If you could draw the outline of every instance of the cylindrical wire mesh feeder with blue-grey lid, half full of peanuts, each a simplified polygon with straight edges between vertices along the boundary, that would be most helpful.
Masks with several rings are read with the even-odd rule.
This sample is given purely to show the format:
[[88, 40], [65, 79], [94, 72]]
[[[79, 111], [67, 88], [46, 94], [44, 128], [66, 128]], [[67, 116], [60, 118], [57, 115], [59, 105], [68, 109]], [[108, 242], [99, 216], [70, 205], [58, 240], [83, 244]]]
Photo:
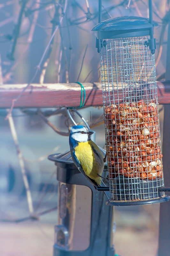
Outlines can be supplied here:
[[[151, 204], [164, 194], [152, 2], [150, 19], [100, 22], [100, 52], [110, 199], [108, 205]], [[100, 6], [100, 5], [99, 5]]]

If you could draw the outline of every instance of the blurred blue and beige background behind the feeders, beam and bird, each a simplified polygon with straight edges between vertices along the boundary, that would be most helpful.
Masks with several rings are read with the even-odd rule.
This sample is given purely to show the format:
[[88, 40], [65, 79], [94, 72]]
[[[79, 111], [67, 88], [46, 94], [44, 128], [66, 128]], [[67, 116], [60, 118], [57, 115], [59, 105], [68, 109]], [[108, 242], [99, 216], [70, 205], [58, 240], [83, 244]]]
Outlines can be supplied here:
[[[0, 1], [0, 83], [27, 84], [62, 17], [64, 0]], [[102, 20], [117, 16], [148, 17], [147, 0], [103, 0]], [[165, 80], [169, 0], [154, 0], [157, 80]], [[88, 7], [89, 4], [89, 8]], [[68, 0], [66, 13], [33, 83], [100, 82], [100, 56], [91, 29], [98, 23], [98, 1]], [[69, 97], [69, 95], [68, 95]], [[47, 111], [48, 109], [41, 109]], [[55, 110], [55, 109], [51, 109]], [[163, 106], [159, 106], [161, 138]], [[79, 110], [89, 124], [102, 120], [103, 108]], [[67, 136], [55, 133], [36, 109], [13, 109], [12, 117], [30, 186], [33, 210], [29, 219], [26, 189], [6, 109], [0, 109], [0, 240], [3, 256], [52, 255], [57, 220], [56, 168], [47, 157], [69, 150]], [[81, 123], [80, 119], [76, 119]], [[68, 132], [64, 113], [48, 118]], [[99, 122], [100, 124], [102, 122]], [[96, 125], [96, 143], [105, 145], [104, 124]], [[154, 256], [158, 249], [159, 204], [115, 207], [116, 253]], [[133, 247], [131, 244], [133, 243]], [[123, 246], [122, 246], [123, 245]]]

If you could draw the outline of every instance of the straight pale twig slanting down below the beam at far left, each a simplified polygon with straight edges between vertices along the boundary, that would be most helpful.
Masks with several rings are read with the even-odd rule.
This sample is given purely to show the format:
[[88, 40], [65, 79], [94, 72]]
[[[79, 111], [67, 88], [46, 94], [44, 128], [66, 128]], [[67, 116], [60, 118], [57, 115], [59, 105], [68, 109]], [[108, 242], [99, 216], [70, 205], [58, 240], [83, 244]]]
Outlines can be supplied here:
[[19, 144], [18, 144], [17, 132], [15, 129], [15, 125], [14, 125], [13, 118], [12, 118], [11, 114], [8, 116], [8, 121], [9, 121], [10, 129], [11, 129], [12, 138], [14, 140], [15, 147], [17, 150], [19, 165], [21, 168], [22, 178], [24, 181], [25, 189], [26, 189], [26, 198], [27, 198], [29, 213], [30, 213], [30, 215], [32, 215], [33, 214], [33, 202], [32, 202], [32, 197], [31, 197], [31, 191], [30, 191], [28, 179], [26, 176], [26, 169], [25, 169], [25, 165], [24, 165], [22, 152], [21, 152], [21, 150], [19, 148]]

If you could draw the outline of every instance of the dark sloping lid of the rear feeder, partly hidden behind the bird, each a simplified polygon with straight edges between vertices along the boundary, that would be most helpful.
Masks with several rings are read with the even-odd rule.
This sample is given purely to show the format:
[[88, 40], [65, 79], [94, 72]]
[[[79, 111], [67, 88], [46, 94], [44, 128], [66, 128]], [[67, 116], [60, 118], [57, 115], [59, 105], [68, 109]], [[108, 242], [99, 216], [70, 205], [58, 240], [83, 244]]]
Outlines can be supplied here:
[[[103, 148], [100, 148], [101, 153], [103, 154], [103, 157], [105, 157], [106, 154], [106, 150], [104, 150]], [[61, 163], [61, 164], [73, 164], [73, 166], [75, 166], [72, 157], [71, 157], [71, 153], [70, 151], [66, 151], [62, 154], [53, 154], [48, 156], [48, 159], [50, 161], [56, 162], [56, 163]], [[107, 162], [105, 163], [105, 168], [106, 168]]]

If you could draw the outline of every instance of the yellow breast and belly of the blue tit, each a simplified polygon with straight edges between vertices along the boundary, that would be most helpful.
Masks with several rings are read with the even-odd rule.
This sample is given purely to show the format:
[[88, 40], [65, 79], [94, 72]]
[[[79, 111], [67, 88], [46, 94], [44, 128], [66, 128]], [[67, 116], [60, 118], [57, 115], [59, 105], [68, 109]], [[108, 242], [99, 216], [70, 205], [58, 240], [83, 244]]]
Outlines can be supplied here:
[[[95, 145], [96, 151], [99, 153], [100, 157], [96, 157], [95, 153], [92, 150], [91, 145]], [[103, 156], [101, 154], [100, 149], [97, 145], [92, 141], [87, 142], [79, 142], [78, 146], [75, 147], [75, 154], [80, 161], [80, 164], [84, 170], [84, 172], [93, 180], [98, 180], [99, 176], [97, 173], [101, 175], [104, 168]]]

